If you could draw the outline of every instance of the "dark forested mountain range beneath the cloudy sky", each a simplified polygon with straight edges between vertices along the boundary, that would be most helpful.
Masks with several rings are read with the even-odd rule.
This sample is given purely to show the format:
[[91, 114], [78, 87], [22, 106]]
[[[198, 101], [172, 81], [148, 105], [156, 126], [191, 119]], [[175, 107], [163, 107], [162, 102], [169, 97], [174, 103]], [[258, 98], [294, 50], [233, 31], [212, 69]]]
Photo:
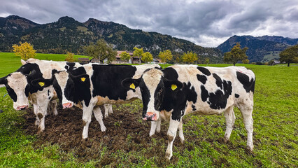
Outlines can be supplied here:
[[125, 25], [94, 18], [78, 22], [65, 16], [59, 18], [57, 22], [38, 24], [17, 15], [0, 17], [0, 52], [10, 52], [13, 44], [27, 41], [34, 45], [37, 52], [69, 51], [83, 54], [83, 46], [95, 43], [100, 38], [111, 43], [115, 50], [132, 51], [135, 46], [142, 47], [155, 57], [160, 51], [168, 49], [173, 55], [192, 51], [197, 53], [201, 60], [209, 57], [211, 63], [222, 62], [223, 53], [231, 50], [237, 42], [241, 47], [248, 47], [246, 54], [250, 62], [266, 62], [278, 58], [281, 50], [298, 43], [298, 38], [282, 36], [232, 36], [217, 48], [204, 48], [166, 34], [130, 29]]

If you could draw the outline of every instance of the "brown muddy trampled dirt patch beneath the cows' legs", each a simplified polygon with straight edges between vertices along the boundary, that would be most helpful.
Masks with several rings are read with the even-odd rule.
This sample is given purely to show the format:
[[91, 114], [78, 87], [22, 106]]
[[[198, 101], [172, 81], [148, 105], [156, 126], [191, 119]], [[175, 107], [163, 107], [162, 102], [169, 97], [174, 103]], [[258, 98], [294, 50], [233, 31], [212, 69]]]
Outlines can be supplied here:
[[[104, 109], [101, 110], [104, 111]], [[124, 160], [116, 160], [115, 157], [111, 156], [118, 151], [137, 153], [145, 148], [145, 158], [155, 157], [158, 166], [166, 166], [164, 155], [167, 146], [166, 130], [169, 123], [163, 122], [162, 131], [149, 137], [150, 122], [141, 120], [141, 111], [131, 113], [129, 109], [114, 110], [114, 113], [109, 114], [108, 118], [104, 118], [106, 132], [101, 132], [99, 123], [92, 116], [88, 138], [83, 140], [83, 111], [77, 108], [58, 109], [58, 113], [58, 116], [46, 116], [45, 131], [38, 134], [37, 140], [34, 141], [35, 148], [40, 148], [44, 144], [58, 144], [63, 151], [73, 152], [82, 162], [98, 160], [99, 166], [113, 166], [119, 162], [124, 162]], [[38, 130], [37, 126], [34, 125], [33, 110], [27, 109], [27, 114], [23, 118], [26, 119], [23, 126], [24, 132], [30, 135], [36, 134]], [[152, 143], [152, 139], [155, 139], [154, 143]], [[173, 145], [183, 151], [183, 144], [178, 138]], [[104, 155], [102, 155], [102, 151], [104, 151]], [[138, 159], [132, 155], [129, 156], [127, 162], [138, 162]], [[173, 156], [171, 163], [175, 164], [176, 162], [178, 162], [178, 158]]]

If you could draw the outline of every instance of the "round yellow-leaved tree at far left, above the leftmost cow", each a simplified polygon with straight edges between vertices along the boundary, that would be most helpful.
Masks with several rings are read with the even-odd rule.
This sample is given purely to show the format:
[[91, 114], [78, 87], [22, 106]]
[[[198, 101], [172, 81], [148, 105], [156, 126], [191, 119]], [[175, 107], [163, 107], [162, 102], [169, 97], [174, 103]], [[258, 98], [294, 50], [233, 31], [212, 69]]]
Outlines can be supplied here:
[[20, 42], [20, 45], [13, 45], [13, 52], [15, 55], [20, 56], [21, 59], [27, 60], [33, 58], [36, 55], [36, 50], [33, 49], [33, 45], [27, 42]]

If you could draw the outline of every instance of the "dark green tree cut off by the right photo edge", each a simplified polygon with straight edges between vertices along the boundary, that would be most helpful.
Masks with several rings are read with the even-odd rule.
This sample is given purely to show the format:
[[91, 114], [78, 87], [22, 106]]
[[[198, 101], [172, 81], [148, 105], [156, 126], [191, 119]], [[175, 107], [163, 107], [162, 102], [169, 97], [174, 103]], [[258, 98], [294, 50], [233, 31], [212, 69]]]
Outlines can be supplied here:
[[288, 63], [288, 66], [290, 63], [298, 62], [298, 44], [279, 53], [279, 61]]

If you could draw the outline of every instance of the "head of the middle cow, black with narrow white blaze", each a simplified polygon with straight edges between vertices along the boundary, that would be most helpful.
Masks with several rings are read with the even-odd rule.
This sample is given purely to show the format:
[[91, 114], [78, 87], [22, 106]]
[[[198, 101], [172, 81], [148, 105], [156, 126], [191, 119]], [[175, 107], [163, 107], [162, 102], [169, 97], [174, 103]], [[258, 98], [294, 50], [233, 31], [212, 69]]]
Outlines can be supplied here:
[[90, 79], [87, 74], [73, 76], [67, 71], [52, 71], [51, 79], [36, 79], [32, 81], [32, 85], [39, 85], [39, 87], [53, 85], [63, 109], [70, 108], [75, 103], [78, 104], [78, 101], [84, 97], [84, 92], [90, 94]]

